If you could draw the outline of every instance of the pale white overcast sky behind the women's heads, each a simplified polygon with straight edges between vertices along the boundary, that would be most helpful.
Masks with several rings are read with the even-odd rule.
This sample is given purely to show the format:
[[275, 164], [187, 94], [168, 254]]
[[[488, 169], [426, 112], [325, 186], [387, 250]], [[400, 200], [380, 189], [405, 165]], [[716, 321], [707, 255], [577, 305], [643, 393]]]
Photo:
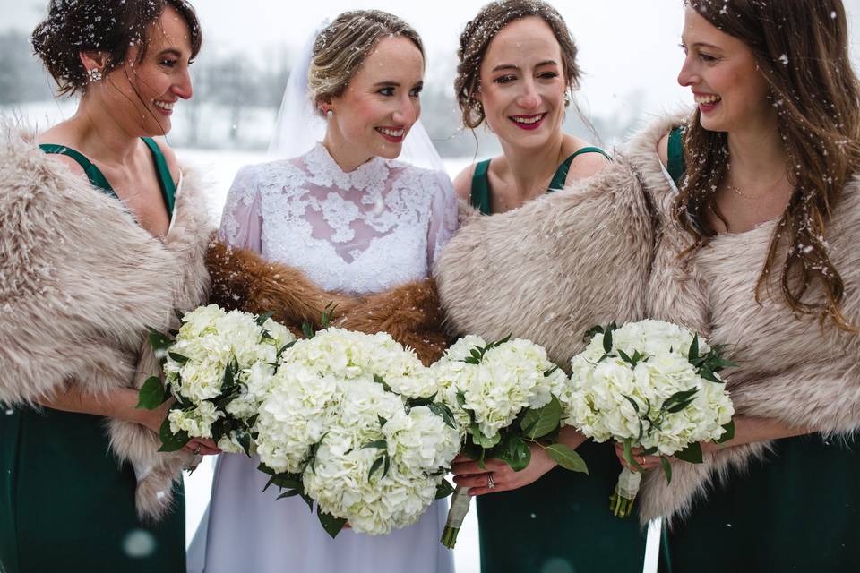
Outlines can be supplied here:
[[[775, 0], [778, 1], [778, 0]], [[409, 21], [426, 42], [428, 82], [451, 86], [460, 30], [484, 0], [193, 0], [200, 15], [204, 50], [240, 50], [254, 58], [283, 61], [324, 18], [352, 8], [378, 8]], [[553, 0], [580, 48], [587, 73], [579, 94], [584, 111], [625, 113], [622, 102], [641, 100], [640, 113], [659, 113], [692, 103], [675, 77], [684, 15], [681, 0]], [[852, 48], [860, 52], [860, 0], [846, 0]], [[238, 6], [238, 7], [237, 7]], [[3, 24], [32, 30], [47, 0], [0, 0]]]

